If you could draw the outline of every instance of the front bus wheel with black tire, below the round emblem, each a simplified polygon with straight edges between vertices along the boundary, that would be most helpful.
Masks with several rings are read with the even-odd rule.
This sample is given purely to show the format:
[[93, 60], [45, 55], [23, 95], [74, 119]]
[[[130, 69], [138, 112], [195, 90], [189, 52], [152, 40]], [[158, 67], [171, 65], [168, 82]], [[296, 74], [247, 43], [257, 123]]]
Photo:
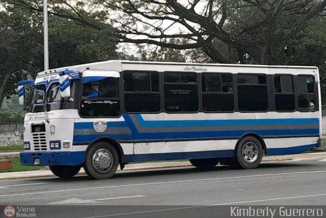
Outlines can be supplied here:
[[[93, 164], [95, 153], [97, 154], [95, 157], [99, 157], [98, 155], [104, 155], [104, 158], [101, 158], [101, 160], [103, 160], [101, 164], [105, 165], [105, 167], [102, 167], [100, 164]], [[119, 155], [116, 148], [107, 142], [97, 142], [91, 145], [87, 151], [84, 169], [87, 175], [93, 179], [108, 179], [115, 174], [118, 165]]]

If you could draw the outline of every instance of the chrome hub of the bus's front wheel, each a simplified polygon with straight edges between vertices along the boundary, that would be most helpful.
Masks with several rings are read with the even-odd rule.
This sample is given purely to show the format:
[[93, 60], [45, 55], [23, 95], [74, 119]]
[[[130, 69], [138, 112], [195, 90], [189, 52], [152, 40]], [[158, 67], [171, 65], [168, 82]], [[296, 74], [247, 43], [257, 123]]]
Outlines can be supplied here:
[[107, 149], [101, 148], [93, 155], [93, 166], [100, 173], [108, 172], [113, 165], [113, 156]]

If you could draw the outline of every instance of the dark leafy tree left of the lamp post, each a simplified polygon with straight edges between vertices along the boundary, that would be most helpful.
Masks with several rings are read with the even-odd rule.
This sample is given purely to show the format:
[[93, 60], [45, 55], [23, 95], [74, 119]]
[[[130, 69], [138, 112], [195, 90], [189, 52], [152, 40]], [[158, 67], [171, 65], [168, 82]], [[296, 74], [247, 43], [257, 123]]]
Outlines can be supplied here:
[[[4, 4], [0, 4], [4, 7]], [[24, 8], [0, 11], [0, 108], [4, 96], [10, 98], [15, 92], [12, 81], [21, 78], [26, 70], [32, 70], [38, 52], [37, 19], [26, 14]]]

